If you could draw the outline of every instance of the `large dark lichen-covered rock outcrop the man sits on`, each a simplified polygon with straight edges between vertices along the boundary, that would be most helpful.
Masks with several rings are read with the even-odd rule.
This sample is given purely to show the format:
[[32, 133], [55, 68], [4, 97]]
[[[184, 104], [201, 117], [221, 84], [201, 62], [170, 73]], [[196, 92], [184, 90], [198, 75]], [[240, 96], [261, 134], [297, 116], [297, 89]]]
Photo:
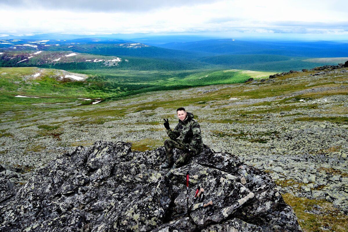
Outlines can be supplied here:
[[[167, 179], [158, 169], [163, 147], [147, 152], [130, 147], [78, 146], [19, 187], [0, 177], [0, 231], [301, 231], [269, 175], [234, 155], [205, 147]], [[204, 202], [214, 204], [172, 219], [187, 207], [187, 171], [190, 201], [199, 185]]]

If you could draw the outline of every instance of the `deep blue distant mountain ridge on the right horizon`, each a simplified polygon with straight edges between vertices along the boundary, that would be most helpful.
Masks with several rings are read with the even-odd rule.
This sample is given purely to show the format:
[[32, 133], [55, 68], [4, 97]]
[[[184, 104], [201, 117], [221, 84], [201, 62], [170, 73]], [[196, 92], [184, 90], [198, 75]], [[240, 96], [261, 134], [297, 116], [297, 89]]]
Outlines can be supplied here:
[[212, 39], [194, 42], [174, 42], [159, 45], [162, 48], [199, 51], [215, 55], [267, 54], [298, 57], [345, 57], [348, 43], [317, 41], [242, 41]]

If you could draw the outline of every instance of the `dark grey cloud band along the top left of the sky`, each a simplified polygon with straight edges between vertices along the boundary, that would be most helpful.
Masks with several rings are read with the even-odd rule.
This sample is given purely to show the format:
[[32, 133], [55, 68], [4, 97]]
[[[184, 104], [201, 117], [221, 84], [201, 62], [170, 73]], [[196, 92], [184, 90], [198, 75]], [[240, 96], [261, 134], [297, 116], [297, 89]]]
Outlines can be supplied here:
[[166, 7], [192, 6], [211, 2], [216, 2], [216, 0], [2, 0], [0, 6], [5, 5], [25, 9], [46, 8], [92, 12], [134, 12], [150, 11]]

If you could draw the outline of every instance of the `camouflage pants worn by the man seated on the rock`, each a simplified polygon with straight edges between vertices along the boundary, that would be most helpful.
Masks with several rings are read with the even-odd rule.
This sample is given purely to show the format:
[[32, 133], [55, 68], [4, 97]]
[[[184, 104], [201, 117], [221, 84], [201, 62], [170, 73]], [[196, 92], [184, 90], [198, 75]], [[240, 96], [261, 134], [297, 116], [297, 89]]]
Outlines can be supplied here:
[[[173, 159], [173, 148], [181, 149], [181, 150], [184, 150], [187, 148], [180, 139], [173, 140], [170, 138], [167, 138], [164, 141], [164, 147], [166, 149], [168, 160]], [[188, 163], [189, 159], [190, 159], [190, 155], [187, 153], [183, 153], [180, 155], [179, 159], [176, 160], [173, 167], [180, 168], [180, 167], [186, 165]]]

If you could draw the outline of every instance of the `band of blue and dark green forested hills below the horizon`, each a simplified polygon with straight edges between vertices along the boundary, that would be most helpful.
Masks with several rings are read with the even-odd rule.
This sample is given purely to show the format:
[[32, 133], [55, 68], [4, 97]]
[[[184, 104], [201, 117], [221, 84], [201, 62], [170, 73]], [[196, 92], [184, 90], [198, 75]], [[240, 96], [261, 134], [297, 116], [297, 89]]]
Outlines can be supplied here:
[[[44, 51], [40, 55], [38, 51]], [[77, 60], [57, 60], [55, 53], [78, 53]], [[47, 54], [52, 53], [52, 54]], [[84, 55], [85, 54], [85, 55]], [[87, 55], [86, 55], [87, 54]], [[89, 55], [116, 56], [122, 61], [116, 66], [87, 62]], [[64, 54], [68, 55], [68, 54]], [[33, 56], [32, 58], [30, 58]], [[47, 57], [52, 57], [48, 59]], [[343, 57], [335, 60], [309, 58]], [[194, 70], [242, 69], [283, 72], [311, 69], [316, 66], [345, 62], [348, 43], [330, 41], [241, 41], [210, 39], [172, 42], [158, 46], [119, 39], [74, 40], [0, 40], [0, 66], [37, 66], [64, 70]], [[104, 57], [103, 59], [108, 59]], [[53, 62], [56, 61], [56, 62]], [[86, 61], [86, 62], [85, 62]]]

